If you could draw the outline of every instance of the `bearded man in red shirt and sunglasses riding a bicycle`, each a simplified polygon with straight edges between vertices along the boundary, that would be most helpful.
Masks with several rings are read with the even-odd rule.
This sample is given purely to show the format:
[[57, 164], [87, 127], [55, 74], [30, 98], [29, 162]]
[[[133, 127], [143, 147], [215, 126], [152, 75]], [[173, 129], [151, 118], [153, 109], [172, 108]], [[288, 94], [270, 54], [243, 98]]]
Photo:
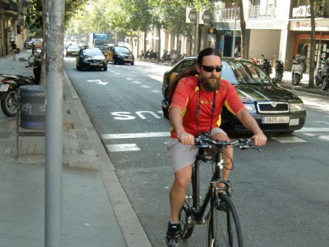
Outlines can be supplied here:
[[[172, 130], [167, 149], [175, 178], [170, 189], [171, 220], [166, 235], [168, 246], [179, 245], [179, 212], [191, 179], [192, 164], [198, 153], [197, 148], [191, 149], [196, 134], [207, 131], [213, 140], [230, 141], [224, 130], [219, 128], [223, 105], [254, 133], [252, 138], [255, 146], [263, 146], [267, 140], [256, 120], [244, 108], [233, 85], [221, 79], [222, 67], [220, 52], [205, 48], [199, 53], [197, 67], [177, 75], [171, 84], [174, 85], [169, 92], [169, 95], [173, 95], [169, 107]], [[232, 148], [226, 149], [223, 159], [224, 179], [227, 180], [232, 169]]]

